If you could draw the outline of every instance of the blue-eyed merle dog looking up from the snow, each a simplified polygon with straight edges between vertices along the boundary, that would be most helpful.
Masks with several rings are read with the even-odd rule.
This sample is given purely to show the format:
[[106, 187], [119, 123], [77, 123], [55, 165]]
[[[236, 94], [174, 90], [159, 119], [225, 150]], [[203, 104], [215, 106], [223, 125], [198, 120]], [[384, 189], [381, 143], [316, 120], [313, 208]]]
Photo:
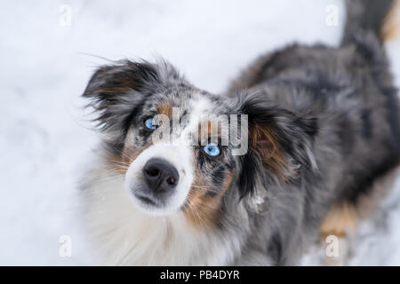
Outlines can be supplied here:
[[392, 6], [348, 1], [339, 47], [261, 56], [222, 95], [163, 59], [99, 67], [83, 96], [101, 143], [80, 194], [101, 263], [292, 265], [321, 234], [346, 234], [400, 162]]

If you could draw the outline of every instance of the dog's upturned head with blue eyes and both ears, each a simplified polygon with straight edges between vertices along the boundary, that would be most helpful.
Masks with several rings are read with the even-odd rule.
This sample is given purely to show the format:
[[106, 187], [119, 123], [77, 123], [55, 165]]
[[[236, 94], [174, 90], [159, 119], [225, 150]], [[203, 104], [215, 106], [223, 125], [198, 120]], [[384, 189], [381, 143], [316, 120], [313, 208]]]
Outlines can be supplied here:
[[98, 114], [111, 169], [150, 214], [213, 222], [229, 192], [251, 198], [258, 186], [313, 164], [315, 121], [260, 95], [201, 91], [164, 61], [100, 67], [84, 97]]

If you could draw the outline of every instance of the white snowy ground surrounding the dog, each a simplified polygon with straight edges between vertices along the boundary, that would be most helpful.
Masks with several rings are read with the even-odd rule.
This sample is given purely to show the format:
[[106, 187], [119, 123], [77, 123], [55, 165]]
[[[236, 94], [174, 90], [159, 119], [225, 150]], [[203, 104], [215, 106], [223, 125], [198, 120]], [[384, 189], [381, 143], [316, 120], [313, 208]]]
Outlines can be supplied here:
[[[325, 23], [329, 4], [339, 8], [339, 26]], [[336, 0], [4, 2], [0, 264], [92, 263], [74, 212], [77, 179], [97, 138], [79, 96], [106, 61], [84, 53], [108, 59], [160, 55], [192, 83], [218, 92], [262, 52], [293, 41], [337, 44], [343, 20]], [[388, 44], [397, 83], [399, 50], [400, 41]], [[350, 264], [400, 264], [399, 182], [383, 204], [356, 236]], [[71, 257], [59, 254], [61, 235], [72, 238]], [[304, 263], [317, 264], [316, 254]]]

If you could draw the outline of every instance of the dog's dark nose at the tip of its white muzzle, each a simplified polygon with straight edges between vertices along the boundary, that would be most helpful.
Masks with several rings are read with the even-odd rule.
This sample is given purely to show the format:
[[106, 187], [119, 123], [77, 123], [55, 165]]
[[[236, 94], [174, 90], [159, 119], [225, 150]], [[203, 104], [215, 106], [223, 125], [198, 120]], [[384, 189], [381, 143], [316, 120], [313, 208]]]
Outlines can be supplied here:
[[152, 158], [143, 167], [143, 175], [151, 190], [155, 193], [166, 192], [176, 185], [180, 179], [178, 170], [170, 162]]

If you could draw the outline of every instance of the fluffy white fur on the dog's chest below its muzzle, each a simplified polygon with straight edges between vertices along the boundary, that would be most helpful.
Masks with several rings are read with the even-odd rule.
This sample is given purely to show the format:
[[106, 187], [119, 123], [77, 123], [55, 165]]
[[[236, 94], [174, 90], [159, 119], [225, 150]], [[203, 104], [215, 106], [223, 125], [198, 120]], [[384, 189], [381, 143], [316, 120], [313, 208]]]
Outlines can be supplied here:
[[101, 263], [111, 265], [223, 265], [235, 248], [222, 233], [197, 230], [183, 214], [150, 216], [136, 209], [124, 177], [92, 172], [84, 188], [86, 226]]

